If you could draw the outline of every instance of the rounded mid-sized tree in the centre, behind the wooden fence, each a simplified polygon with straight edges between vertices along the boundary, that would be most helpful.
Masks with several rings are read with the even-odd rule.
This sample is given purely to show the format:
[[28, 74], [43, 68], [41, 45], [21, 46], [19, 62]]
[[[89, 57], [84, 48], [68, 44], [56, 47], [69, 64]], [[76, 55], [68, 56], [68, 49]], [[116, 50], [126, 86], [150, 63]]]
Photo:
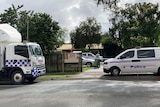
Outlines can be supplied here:
[[75, 30], [70, 33], [71, 42], [75, 48], [85, 48], [88, 44], [89, 49], [93, 43], [100, 43], [101, 26], [95, 18], [87, 18], [86, 21], [80, 23]]

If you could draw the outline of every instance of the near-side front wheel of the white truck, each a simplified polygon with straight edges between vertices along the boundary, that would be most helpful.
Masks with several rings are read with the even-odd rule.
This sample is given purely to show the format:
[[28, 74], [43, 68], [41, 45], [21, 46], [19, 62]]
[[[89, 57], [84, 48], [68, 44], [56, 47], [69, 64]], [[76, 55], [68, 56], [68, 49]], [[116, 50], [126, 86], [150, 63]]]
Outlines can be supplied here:
[[15, 71], [11, 75], [11, 82], [13, 84], [22, 84], [24, 82], [24, 74], [21, 71]]

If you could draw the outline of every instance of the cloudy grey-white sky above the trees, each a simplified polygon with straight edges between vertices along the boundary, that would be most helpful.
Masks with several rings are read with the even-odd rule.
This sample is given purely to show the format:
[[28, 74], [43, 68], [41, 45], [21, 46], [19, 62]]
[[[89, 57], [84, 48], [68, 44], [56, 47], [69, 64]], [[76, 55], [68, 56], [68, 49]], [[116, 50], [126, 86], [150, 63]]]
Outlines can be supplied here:
[[[151, 2], [160, 3], [160, 0], [121, 0], [120, 4]], [[62, 28], [69, 31], [78, 26], [87, 17], [95, 17], [102, 25], [102, 31], [108, 30], [110, 14], [103, 6], [98, 6], [94, 0], [0, 0], [0, 13], [11, 7], [11, 4], [24, 5], [22, 10], [33, 10], [35, 12], [50, 14], [53, 20], [59, 22]], [[68, 40], [66, 41], [68, 42]]]

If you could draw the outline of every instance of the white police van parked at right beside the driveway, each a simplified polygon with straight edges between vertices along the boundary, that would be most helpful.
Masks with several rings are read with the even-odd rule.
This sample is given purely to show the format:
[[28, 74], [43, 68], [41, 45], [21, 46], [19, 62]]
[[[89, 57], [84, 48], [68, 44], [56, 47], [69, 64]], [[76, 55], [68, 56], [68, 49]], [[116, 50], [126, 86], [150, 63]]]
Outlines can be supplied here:
[[160, 47], [128, 49], [104, 61], [103, 71], [113, 76], [121, 72], [160, 74]]

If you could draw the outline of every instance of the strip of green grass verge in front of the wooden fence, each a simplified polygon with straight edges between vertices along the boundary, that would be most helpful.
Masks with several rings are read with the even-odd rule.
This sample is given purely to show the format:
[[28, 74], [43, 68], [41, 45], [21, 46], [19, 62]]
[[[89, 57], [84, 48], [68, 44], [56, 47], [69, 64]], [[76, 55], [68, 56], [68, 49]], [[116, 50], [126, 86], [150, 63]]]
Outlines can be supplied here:
[[[83, 67], [82, 72], [85, 72], [92, 67]], [[46, 73], [43, 76], [38, 77], [38, 80], [54, 80], [54, 79], [67, 79], [73, 75], [79, 74], [81, 72], [53, 72], [53, 73]]]

